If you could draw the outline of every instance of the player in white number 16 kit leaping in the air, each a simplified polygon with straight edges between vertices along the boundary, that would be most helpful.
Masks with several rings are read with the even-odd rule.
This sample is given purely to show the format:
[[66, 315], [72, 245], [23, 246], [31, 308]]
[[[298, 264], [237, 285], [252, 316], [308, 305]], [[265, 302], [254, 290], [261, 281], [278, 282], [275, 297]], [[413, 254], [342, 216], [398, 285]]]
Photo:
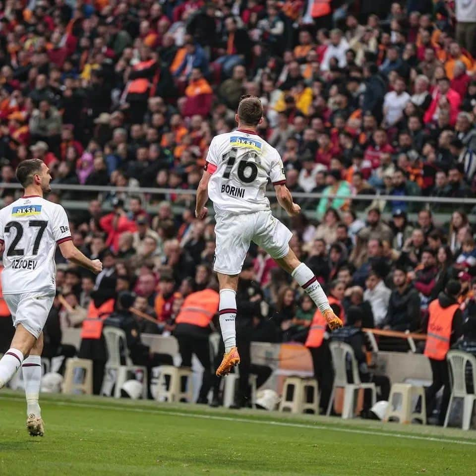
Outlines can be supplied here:
[[214, 270], [220, 283], [220, 328], [225, 355], [217, 375], [226, 375], [239, 363], [235, 319], [238, 275], [251, 241], [264, 248], [299, 283], [315, 302], [331, 329], [342, 327], [314, 273], [301, 263], [289, 247], [293, 236], [272, 216], [265, 196], [268, 179], [274, 185], [279, 204], [289, 216], [300, 207], [286, 187], [283, 162], [278, 151], [257, 134], [263, 107], [256, 97], [243, 96], [235, 117], [238, 129], [213, 138], [208, 149], [205, 172], [198, 185], [195, 216], [204, 219], [205, 204], [213, 201], [216, 219]]

